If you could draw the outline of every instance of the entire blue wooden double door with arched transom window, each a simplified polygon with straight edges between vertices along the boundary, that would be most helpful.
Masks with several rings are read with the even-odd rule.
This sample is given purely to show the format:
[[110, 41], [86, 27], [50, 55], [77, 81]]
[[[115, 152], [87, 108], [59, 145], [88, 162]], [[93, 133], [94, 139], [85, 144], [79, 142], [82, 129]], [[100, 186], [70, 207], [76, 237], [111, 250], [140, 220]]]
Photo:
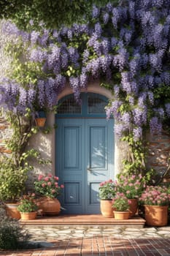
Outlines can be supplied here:
[[[94, 97], [82, 94], [79, 113], [68, 113], [63, 101], [56, 116], [56, 173], [64, 184], [60, 197], [63, 214], [100, 213], [99, 184], [114, 176], [113, 119], [107, 121], [102, 110], [89, 113], [89, 95]], [[75, 104], [71, 99], [66, 99], [69, 108], [70, 101]]]

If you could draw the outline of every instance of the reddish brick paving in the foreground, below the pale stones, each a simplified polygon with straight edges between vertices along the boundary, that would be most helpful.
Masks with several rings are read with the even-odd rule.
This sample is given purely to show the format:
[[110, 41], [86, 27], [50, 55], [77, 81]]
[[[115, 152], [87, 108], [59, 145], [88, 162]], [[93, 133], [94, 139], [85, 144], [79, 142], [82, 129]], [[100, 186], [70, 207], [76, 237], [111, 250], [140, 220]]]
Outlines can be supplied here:
[[170, 239], [141, 238], [117, 239], [112, 237], [93, 236], [93, 238], [53, 241], [53, 247], [18, 252], [0, 252], [10, 256], [167, 256], [170, 255]]

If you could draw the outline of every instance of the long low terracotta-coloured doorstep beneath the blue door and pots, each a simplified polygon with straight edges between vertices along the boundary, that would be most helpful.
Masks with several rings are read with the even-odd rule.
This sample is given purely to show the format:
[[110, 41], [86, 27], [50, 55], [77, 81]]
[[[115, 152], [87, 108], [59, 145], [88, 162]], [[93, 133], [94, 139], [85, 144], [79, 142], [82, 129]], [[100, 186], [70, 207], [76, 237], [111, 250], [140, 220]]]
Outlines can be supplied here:
[[142, 228], [145, 225], [145, 220], [136, 215], [130, 219], [117, 220], [115, 218], [106, 218], [101, 214], [72, 214], [72, 215], [59, 215], [53, 217], [36, 217], [33, 220], [19, 220], [20, 224], [28, 226], [104, 226], [104, 227], [137, 227]]

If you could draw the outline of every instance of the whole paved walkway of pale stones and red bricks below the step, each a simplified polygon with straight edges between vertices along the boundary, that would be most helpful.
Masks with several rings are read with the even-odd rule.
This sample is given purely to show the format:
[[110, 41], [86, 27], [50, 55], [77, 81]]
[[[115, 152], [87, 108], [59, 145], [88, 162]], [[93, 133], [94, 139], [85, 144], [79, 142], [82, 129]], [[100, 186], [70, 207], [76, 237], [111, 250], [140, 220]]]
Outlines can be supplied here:
[[31, 241], [44, 247], [16, 252], [10, 256], [167, 256], [170, 255], [170, 227], [26, 227]]

